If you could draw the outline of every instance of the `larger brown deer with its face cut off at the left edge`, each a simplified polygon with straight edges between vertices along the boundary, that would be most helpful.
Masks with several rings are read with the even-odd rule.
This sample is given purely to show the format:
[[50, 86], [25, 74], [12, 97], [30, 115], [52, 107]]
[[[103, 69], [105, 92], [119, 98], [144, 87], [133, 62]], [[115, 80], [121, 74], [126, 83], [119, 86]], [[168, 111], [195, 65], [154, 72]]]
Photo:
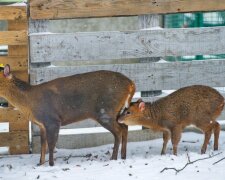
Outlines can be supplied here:
[[96, 71], [31, 86], [14, 77], [10, 66], [6, 65], [0, 73], [0, 84], [0, 96], [40, 127], [40, 164], [45, 162], [48, 145], [49, 165], [54, 165], [53, 151], [61, 125], [88, 118], [96, 120], [114, 135], [112, 159], [117, 159], [121, 139], [121, 157], [126, 158], [128, 128], [117, 122], [135, 92], [134, 83], [126, 76]]

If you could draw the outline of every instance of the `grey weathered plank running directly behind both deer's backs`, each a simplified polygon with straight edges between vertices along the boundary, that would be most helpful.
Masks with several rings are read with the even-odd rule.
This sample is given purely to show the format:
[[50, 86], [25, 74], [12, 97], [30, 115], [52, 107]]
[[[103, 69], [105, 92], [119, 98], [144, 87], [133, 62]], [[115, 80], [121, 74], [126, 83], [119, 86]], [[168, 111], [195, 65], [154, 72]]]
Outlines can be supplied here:
[[225, 60], [46, 67], [30, 70], [31, 84], [96, 70], [121, 72], [134, 80], [137, 91], [178, 89], [193, 84], [225, 86]]

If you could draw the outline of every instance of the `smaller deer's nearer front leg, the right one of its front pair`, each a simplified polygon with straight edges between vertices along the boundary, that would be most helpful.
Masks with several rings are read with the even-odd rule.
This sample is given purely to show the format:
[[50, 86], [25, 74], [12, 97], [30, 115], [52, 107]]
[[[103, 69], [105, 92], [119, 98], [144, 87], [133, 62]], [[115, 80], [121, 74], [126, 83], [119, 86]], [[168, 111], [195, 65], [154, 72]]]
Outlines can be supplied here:
[[177, 146], [181, 139], [182, 127], [175, 126], [171, 129], [171, 141], [173, 145], [173, 154], [177, 155]]

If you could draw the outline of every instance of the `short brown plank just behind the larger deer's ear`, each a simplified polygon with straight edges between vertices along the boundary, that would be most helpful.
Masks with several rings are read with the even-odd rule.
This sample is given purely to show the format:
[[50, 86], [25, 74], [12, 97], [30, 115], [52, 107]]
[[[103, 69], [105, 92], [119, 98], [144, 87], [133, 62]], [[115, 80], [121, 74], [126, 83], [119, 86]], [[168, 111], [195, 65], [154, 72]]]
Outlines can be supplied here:
[[0, 64], [9, 64], [13, 71], [24, 71], [28, 68], [28, 57], [0, 56]]

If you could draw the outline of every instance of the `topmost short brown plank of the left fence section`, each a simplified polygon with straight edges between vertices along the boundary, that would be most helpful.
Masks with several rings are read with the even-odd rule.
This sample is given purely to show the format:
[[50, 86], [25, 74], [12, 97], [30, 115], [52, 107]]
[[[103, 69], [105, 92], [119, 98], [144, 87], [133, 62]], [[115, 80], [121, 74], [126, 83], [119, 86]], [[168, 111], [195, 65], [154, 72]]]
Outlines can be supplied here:
[[26, 20], [26, 6], [0, 6], [0, 20]]

